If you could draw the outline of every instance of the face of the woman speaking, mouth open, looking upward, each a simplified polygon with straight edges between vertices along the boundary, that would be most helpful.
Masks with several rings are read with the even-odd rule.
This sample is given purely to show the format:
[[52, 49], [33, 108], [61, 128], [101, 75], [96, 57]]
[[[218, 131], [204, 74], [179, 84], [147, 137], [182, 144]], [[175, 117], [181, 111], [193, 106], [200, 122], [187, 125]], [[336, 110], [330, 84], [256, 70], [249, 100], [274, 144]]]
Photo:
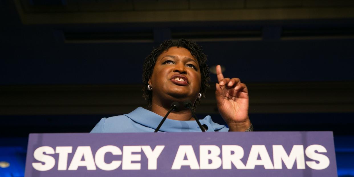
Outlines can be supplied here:
[[171, 47], [156, 59], [149, 84], [153, 88], [153, 102], [156, 99], [194, 102], [201, 85], [199, 63], [186, 48]]

